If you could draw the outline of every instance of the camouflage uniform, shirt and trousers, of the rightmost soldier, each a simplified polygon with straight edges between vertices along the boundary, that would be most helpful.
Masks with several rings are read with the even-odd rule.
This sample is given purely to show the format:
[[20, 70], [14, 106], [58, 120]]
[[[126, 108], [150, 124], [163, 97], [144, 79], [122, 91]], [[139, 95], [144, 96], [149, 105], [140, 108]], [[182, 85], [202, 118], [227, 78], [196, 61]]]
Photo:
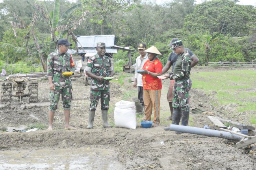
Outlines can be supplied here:
[[174, 66], [170, 78], [175, 79], [173, 88], [173, 108], [189, 112], [189, 90], [192, 81], [189, 79], [191, 70], [191, 56], [186, 50], [180, 55]]

